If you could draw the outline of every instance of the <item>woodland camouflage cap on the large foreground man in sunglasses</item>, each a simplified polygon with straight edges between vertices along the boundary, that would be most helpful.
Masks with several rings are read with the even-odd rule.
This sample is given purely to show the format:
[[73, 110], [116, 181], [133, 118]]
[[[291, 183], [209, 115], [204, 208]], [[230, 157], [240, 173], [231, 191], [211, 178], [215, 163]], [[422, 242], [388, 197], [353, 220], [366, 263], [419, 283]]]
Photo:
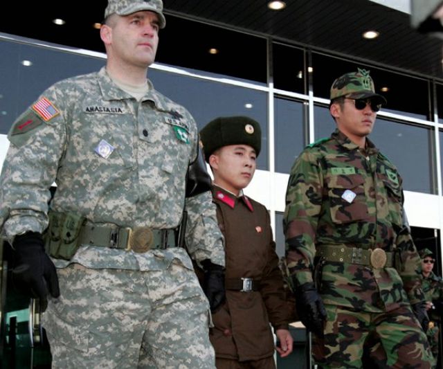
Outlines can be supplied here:
[[386, 98], [375, 93], [374, 81], [370, 71], [358, 68], [356, 72], [343, 74], [331, 86], [331, 101], [345, 96], [346, 98], [374, 98], [379, 104], [386, 105]]

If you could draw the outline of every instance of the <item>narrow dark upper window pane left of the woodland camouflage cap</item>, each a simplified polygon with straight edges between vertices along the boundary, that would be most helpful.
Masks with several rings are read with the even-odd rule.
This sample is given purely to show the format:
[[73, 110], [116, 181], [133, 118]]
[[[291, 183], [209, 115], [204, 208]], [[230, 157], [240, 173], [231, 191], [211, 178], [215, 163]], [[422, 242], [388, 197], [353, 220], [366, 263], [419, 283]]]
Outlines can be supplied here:
[[275, 89], [305, 93], [304, 52], [282, 44], [273, 44], [272, 51]]

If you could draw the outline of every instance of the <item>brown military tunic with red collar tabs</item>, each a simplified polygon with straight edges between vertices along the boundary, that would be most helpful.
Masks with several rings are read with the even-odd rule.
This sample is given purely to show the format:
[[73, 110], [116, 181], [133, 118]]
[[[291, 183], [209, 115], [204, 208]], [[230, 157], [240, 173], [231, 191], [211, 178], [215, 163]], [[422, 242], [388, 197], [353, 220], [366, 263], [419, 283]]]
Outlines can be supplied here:
[[257, 291], [226, 289], [226, 303], [213, 314], [210, 341], [216, 357], [239, 361], [270, 357], [274, 330], [287, 329], [289, 311], [284, 301], [282, 274], [269, 213], [246, 196], [235, 197], [213, 186], [217, 220], [225, 237], [228, 281], [253, 278]]

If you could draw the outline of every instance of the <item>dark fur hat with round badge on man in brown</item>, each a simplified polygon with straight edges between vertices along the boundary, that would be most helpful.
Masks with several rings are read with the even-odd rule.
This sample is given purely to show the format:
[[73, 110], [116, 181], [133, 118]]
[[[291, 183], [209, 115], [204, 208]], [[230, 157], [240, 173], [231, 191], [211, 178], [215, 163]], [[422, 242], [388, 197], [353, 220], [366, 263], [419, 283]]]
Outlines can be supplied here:
[[211, 120], [200, 131], [205, 159], [223, 146], [249, 145], [260, 154], [262, 147], [262, 129], [260, 124], [247, 116], [226, 116]]

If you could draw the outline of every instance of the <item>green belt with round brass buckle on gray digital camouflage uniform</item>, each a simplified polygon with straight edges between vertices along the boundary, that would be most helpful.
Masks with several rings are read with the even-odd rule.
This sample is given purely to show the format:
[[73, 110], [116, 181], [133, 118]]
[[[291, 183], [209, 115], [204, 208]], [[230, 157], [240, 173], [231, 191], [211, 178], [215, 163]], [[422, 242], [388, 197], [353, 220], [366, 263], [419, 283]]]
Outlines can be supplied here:
[[152, 229], [149, 227], [119, 228], [86, 225], [82, 226], [80, 230], [79, 241], [80, 244], [132, 250], [136, 253], [177, 246], [174, 229]]

